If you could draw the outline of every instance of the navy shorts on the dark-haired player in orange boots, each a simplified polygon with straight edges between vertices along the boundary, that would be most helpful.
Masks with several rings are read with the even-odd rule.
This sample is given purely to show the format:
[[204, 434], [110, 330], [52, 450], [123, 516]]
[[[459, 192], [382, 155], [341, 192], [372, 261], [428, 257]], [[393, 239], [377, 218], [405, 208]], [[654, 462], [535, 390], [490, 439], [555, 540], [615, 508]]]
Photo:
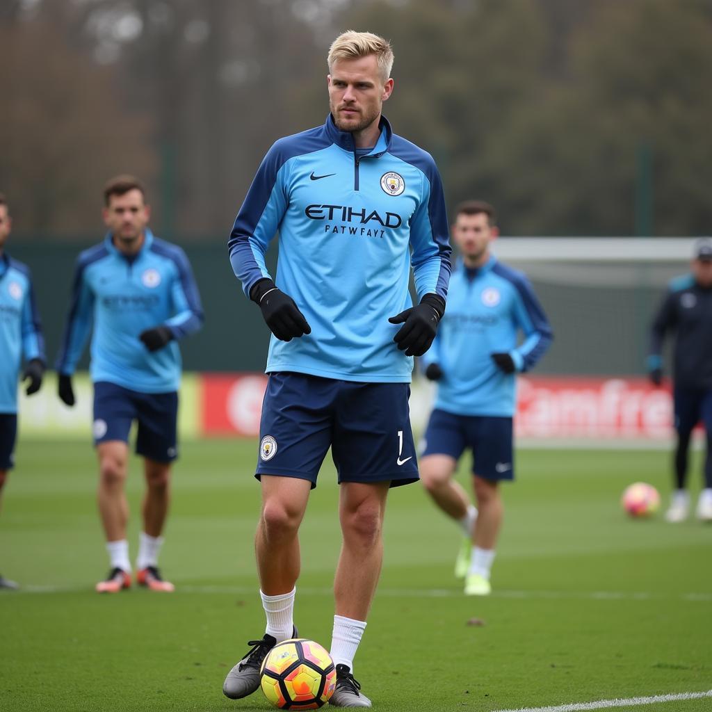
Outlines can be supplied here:
[[138, 422], [136, 453], [157, 462], [176, 459], [178, 394], [140, 393], [115, 383], [94, 384], [94, 444], [128, 442], [132, 422]]

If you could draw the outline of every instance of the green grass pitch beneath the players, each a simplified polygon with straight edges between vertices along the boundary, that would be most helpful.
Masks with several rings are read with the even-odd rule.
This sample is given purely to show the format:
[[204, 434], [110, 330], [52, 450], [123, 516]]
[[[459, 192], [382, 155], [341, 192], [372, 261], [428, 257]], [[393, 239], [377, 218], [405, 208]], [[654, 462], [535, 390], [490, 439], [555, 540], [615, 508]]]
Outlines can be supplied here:
[[[270, 708], [259, 692], [243, 701], [221, 693], [264, 629], [253, 563], [256, 442], [184, 444], [161, 559], [173, 595], [93, 592], [108, 563], [88, 444], [24, 441], [16, 456], [0, 572], [23, 590], [0, 592], [0, 710]], [[355, 659], [375, 708], [492, 712], [712, 689], [712, 527], [629, 520], [619, 508], [637, 480], [666, 499], [669, 456], [532, 450], [519, 451], [516, 466], [488, 598], [462, 595], [452, 576], [459, 533], [422, 488], [390, 493], [383, 575]], [[133, 560], [140, 461], [131, 468]], [[326, 646], [337, 496], [329, 463], [301, 529], [295, 607], [300, 634]], [[706, 698], [635, 709], [711, 708]]]

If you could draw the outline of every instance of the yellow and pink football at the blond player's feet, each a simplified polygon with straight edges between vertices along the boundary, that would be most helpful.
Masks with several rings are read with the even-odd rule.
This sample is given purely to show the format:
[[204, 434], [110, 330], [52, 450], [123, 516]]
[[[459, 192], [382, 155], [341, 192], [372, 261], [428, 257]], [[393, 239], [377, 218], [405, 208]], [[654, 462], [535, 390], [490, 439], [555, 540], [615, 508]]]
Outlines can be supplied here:
[[320, 644], [293, 638], [269, 651], [260, 669], [260, 686], [281, 710], [315, 710], [333, 695], [336, 669]]

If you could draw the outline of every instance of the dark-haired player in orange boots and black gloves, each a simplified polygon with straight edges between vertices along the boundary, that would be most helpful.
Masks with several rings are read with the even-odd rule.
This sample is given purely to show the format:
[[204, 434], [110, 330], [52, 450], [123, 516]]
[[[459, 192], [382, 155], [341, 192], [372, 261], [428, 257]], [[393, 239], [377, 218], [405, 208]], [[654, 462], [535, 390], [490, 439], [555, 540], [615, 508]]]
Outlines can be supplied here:
[[90, 375], [94, 385], [93, 436], [99, 460], [98, 505], [111, 570], [100, 593], [131, 585], [126, 540], [128, 436], [138, 423], [136, 452], [144, 458], [137, 582], [169, 592], [158, 569], [169, 504], [172, 461], [177, 457], [177, 340], [203, 321], [198, 289], [181, 248], [153, 236], [145, 189], [132, 176], [118, 176], [104, 190], [104, 241], [80, 254], [73, 297], [56, 368], [59, 397], [75, 402], [74, 373], [94, 325]]

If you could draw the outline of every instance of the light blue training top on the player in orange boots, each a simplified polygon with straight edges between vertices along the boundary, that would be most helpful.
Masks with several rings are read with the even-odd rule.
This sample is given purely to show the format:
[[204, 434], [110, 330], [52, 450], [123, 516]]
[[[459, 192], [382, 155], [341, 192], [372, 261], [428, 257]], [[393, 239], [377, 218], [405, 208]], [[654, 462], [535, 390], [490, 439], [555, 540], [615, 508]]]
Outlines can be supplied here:
[[[71, 307], [56, 362], [73, 374], [89, 333], [90, 375], [142, 393], [168, 393], [180, 384], [176, 340], [203, 323], [200, 295], [184, 251], [145, 231], [135, 256], [117, 250], [111, 235], [80, 254]], [[167, 326], [174, 340], [149, 352], [139, 340], [146, 329]]]

